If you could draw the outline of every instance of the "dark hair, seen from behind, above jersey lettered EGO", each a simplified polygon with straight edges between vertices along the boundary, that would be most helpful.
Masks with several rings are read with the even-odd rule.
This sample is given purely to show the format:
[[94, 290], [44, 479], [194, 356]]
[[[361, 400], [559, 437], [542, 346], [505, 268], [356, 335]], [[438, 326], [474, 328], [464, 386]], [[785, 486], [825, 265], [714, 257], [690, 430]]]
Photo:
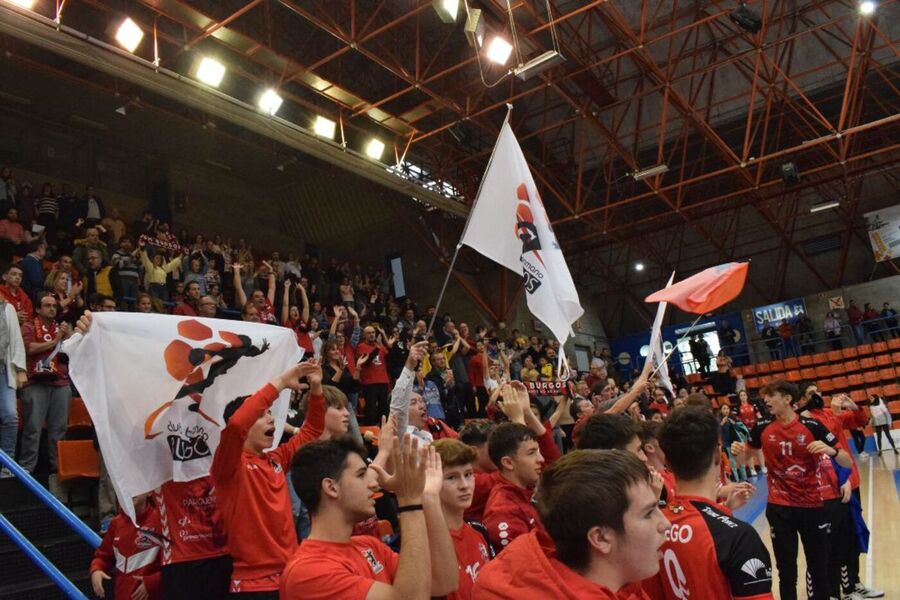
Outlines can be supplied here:
[[659, 431], [659, 447], [678, 479], [700, 479], [719, 445], [719, 422], [706, 409], [685, 406], [669, 415]]

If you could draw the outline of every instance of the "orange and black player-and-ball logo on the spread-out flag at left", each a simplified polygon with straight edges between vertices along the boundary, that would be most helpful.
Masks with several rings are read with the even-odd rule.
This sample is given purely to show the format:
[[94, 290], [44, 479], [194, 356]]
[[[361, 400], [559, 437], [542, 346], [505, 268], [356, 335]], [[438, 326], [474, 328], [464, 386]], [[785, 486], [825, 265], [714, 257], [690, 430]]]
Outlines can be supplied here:
[[[190, 412], [219, 426], [215, 419], [201, 409], [204, 390], [242, 358], [259, 356], [269, 349], [269, 343], [265, 340], [262, 346], [256, 347], [249, 336], [225, 330], [214, 331], [195, 319], [185, 319], [178, 323], [177, 328], [181, 338], [169, 342], [163, 351], [163, 358], [166, 371], [183, 385], [174, 399], [164, 403], [147, 417], [144, 422], [144, 438], [148, 440], [162, 433], [154, 431], [160, 415], [185, 397], [190, 400], [187, 406]], [[172, 426], [170, 424], [170, 429]]]

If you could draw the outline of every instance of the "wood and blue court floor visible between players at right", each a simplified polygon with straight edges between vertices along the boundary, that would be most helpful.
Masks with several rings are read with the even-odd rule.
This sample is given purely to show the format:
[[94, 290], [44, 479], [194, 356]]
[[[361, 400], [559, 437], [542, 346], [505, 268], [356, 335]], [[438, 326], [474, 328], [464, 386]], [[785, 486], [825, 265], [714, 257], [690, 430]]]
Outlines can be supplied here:
[[[893, 431], [895, 443], [900, 447], [900, 429]], [[869, 588], [884, 591], [885, 600], [900, 600], [900, 456], [890, 446], [881, 456], [874, 455], [875, 445], [871, 437], [866, 441], [866, 453], [854, 455], [860, 471], [860, 493], [866, 524], [871, 531], [869, 553], [860, 556], [859, 574]], [[747, 506], [736, 516], [753, 523], [762, 536], [769, 552], [772, 542], [766, 521], [765, 477], [754, 480], [756, 493]], [[806, 598], [804, 573], [806, 562], [802, 545], [798, 556], [798, 598]], [[774, 566], [775, 557], [772, 556]], [[773, 590], [778, 594], [778, 569], [773, 568]]]

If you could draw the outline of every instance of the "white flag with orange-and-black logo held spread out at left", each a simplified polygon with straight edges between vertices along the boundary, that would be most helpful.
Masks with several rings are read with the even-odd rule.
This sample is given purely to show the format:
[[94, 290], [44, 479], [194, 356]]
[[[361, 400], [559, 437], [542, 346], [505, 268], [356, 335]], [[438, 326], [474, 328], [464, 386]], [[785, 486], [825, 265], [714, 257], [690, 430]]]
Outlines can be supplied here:
[[[303, 355], [287, 328], [137, 313], [94, 313], [87, 334], [63, 351], [132, 519], [134, 496], [208, 475], [225, 406]], [[272, 406], [275, 440], [289, 401], [285, 390]]]

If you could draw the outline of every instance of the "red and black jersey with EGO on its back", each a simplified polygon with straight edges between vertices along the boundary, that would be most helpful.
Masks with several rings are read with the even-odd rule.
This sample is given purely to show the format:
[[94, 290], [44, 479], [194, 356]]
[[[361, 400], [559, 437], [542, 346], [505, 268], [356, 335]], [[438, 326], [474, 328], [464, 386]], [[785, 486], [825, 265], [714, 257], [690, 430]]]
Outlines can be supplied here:
[[772, 561], [756, 530], [706, 498], [678, 496], [659, 573], [644, 582], [654, 600], [772, 600]]

